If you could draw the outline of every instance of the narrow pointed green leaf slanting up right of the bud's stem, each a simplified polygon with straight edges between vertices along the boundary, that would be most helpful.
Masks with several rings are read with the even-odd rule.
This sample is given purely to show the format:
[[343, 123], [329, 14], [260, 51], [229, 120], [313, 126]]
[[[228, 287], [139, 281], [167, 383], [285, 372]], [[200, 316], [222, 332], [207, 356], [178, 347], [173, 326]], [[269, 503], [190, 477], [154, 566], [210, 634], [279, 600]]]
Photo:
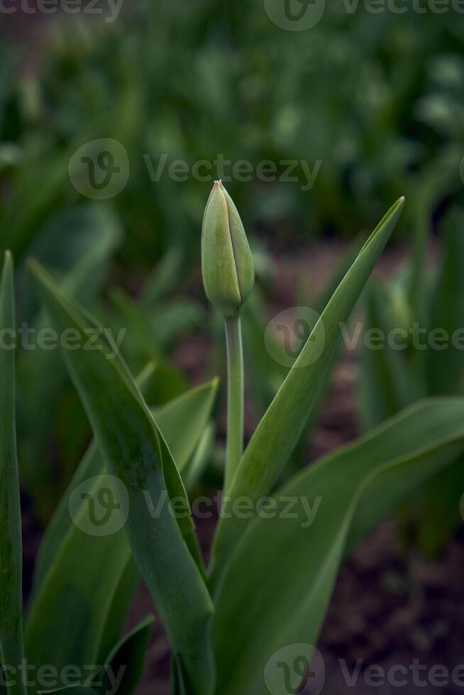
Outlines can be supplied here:
[[[245, 450], [233, 479], [231, 499], [247, 496], [253, 502], [267, 494], [277, 481], [317, 403], [321, 384], [331, 367], [341, 340], [341, 323], [346, 323], [372, 268], [385, 247], [402, 211], [404, 199], [390, 209], [360, 250], [350, 270], [314, 326], [297, 362]], [[226, 562], [247, 524], [236, 516], [219, 523], [214, 548], [211, 584], [215, 586]]]

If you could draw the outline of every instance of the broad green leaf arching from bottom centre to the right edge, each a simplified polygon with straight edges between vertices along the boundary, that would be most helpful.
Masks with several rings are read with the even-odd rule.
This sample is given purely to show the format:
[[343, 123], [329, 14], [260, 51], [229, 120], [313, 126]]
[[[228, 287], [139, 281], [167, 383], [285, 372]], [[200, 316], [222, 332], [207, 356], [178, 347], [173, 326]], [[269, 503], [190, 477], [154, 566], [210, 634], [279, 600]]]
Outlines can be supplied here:
[[280, 692], [282, 669], [266, 666], [288, 645], [316, 644], [343, 557], [463, 451], [464, 399], [422, 401], [277, 491], [272, 513], [238, 543], [216, 599], [217, 692]]

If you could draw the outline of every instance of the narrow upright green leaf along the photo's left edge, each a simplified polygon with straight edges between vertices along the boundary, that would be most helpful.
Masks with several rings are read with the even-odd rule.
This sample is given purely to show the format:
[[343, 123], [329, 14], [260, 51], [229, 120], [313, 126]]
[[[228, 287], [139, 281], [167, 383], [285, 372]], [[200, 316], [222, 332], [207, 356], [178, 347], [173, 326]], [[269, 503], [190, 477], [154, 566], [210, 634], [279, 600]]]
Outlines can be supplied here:
[[[0, 278], [0, 663], [18, 669], [23, 661], [23, 594], [21, 509], [16, 456], [13, 304], [13, 260], [6, 252]], [[8, 674], [7, 674], [8, 677]], [[21, 678], [10, 695], [26, 689]]]

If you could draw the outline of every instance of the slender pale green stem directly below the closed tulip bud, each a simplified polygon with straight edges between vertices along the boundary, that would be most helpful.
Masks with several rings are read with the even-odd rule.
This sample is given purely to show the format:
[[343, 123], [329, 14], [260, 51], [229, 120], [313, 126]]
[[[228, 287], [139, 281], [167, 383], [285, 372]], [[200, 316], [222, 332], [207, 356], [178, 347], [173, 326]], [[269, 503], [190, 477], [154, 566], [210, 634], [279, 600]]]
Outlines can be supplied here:
[[225, 319], [227, 342], [227, 452], [224, 492], [228, 494], [243, 454], [243, 345], [238, 314]]

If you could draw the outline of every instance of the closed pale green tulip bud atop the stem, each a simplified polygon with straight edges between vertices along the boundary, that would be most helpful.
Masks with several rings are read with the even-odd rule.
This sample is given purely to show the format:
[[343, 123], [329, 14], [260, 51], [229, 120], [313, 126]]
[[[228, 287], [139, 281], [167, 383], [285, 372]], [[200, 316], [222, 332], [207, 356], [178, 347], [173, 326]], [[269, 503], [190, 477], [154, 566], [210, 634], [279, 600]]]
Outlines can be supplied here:
[[238, 210], [221, 181], [209, 196], [201, 232], [201, 274], [211, 304], [233, 316], [248, 299], [255, 267]]

